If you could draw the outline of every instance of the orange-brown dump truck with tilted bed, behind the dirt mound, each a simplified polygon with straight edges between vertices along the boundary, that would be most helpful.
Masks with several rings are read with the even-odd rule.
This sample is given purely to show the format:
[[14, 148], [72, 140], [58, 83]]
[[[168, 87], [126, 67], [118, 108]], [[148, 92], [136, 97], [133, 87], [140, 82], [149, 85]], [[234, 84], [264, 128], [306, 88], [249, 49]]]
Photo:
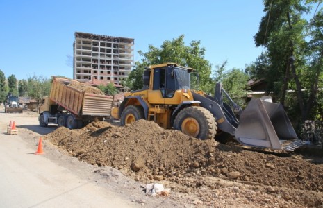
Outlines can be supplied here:
[[42, 127], [57, 124], [69, 129], [81, 128], [92, 121], [108, 119], [112, 107], [113, 96], [103, 94], [98, 88], [53, 77], [51, 92], [40, 106], [38, 121]]

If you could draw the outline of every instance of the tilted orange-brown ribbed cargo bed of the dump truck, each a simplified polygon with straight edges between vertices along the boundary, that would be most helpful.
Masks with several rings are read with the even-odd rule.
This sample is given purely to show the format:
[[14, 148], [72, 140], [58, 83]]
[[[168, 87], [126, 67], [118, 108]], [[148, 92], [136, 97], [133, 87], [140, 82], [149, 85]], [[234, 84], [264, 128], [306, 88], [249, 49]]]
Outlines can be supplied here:
[[54, 78], [49, 99], [78, 116], [110, 116], [113, 96], [83, 92], [69, 87], [72, 82], [76, 81]]

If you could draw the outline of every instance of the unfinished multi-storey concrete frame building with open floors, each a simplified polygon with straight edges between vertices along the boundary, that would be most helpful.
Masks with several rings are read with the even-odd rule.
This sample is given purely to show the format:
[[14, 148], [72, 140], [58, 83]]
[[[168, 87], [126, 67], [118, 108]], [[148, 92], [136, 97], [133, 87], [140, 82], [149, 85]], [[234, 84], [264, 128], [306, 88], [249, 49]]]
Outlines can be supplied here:
[[134, 39], [75, 33], [73, 78], [94, 85], [114, 83], [129, 76]]

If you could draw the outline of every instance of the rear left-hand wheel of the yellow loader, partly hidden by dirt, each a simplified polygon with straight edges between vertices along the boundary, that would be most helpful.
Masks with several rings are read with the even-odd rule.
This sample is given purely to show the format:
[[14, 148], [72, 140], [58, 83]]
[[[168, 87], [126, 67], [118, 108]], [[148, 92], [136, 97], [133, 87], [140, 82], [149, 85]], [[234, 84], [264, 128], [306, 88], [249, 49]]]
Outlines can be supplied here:
[[144, 110], [140, 105], [129, 105], [121, 114], [121, 125], [144, 119]]

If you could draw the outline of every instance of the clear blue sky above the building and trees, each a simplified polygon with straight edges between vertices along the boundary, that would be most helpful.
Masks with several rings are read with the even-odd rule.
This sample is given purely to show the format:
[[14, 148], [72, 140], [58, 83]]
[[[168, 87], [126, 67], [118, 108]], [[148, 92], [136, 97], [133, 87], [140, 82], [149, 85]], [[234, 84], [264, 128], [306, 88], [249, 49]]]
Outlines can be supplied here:
[[263, 1], [9, 1], [0, 0], [0, 69], [8, 77], [67, 76], [72, 66], [74, 33], [94, 33], [135, 39], [137, 51], [149, 44], [185, 35], [200, 40], [206, 60], [228, 60], [228, 69], [243, 69], [256, 60], [254, 35], [263, 17]]

